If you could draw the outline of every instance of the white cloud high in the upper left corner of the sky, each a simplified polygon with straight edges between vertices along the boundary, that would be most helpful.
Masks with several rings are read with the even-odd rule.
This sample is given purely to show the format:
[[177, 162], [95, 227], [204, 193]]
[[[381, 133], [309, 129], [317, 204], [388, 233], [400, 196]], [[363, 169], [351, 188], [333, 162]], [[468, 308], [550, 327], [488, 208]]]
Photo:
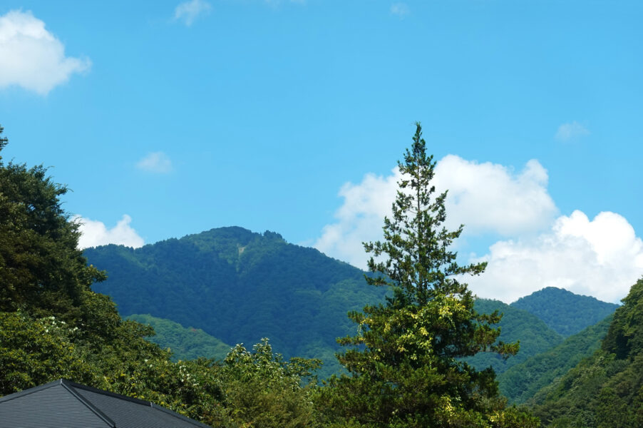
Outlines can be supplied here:
[[88, 58], [65, 56], [65, 46], [31, 11], [0, 16], [0, 88], [17, 85], [46, 95], [90, 67]]

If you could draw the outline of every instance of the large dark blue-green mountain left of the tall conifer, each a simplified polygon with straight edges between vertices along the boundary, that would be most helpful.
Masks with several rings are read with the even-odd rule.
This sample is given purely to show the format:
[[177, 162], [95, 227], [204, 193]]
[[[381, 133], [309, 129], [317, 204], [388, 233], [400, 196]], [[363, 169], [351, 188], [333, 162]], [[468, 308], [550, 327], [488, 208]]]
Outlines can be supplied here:
[[149, 313], [228, 344], [269, 337], [287, 357], [320, 358], [323, 377], [339, 370], [336, 337], [355, 331], [346, 312], [382, 301], [385, 292], [317, 250], [234, 227], [85, 255], [110, 272], [94, 290], [110, 295], [121, 315]]

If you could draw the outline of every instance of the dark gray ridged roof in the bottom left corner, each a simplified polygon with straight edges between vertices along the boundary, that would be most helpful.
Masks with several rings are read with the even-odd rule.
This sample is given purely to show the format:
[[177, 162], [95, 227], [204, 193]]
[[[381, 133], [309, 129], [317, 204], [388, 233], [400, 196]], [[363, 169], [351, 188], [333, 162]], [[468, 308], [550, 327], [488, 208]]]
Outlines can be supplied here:
[[0, 398], [0, 428], [210, 428], [142, 399], [66, 379]]

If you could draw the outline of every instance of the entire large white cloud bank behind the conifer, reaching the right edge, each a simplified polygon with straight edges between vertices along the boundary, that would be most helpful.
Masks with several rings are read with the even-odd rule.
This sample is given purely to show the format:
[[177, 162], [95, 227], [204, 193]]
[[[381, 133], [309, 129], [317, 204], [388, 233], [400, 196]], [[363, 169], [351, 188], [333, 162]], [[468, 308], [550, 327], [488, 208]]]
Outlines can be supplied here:
[[[384, 215], [401, 175], [366, 174], [361, 183], [346, 183], [339, 196], [336, 222], [326, 225], [314, 247], [364, 268], [363, 241], [381, 240]], [[434, 184], [448, 190], [447, 227], [464, 223], [464, 235], [493, 233], [483, 258], [487, 271], [465, 281], [480, 297], [513, 302], [543, 287], [562, 287], [577, 294], [617, 302], [643, 275], [643, 241], [617, 213], [593, 220], [580, 211], [556, 218], [547, 193], [547, 171], [535, 160], [522, 171], [494, 163], [445, 156], [436, 165]]]

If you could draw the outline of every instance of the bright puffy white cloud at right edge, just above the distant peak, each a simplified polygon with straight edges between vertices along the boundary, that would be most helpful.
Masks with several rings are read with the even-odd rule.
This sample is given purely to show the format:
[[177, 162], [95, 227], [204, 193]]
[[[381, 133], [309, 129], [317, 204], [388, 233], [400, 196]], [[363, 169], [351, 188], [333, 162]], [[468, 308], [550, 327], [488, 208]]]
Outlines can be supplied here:
[[604, 212], [590, 221], [577, 210], [537, 238], [495, 243], [482, 260], [486, 272], [467, 280], [480, 297], [513, 302], [560, 287], [617, 302], [643, 275], [643, 241], [621, 215]]

